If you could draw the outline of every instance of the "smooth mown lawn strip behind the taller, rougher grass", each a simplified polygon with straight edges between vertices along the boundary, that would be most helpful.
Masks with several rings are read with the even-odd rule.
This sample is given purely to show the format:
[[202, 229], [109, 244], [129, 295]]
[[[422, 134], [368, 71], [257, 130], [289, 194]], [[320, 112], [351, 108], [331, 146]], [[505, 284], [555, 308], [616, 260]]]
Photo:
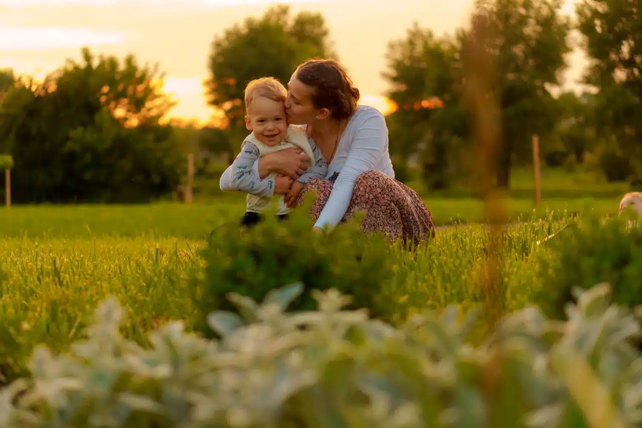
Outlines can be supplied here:
[[[483, 201], [472, 198], [425, 198], [436, 226], [484, 222]], [[199, 203], [119, 206], [13, 206], [0, 208], [0, 236], [42, 240], [50, 238], [93, 239], [103, 236], [135, 238], [187, 238], [200, 240], [216, 226], [239, 221], [243, 202], [236, 198], [218, 203]], [[537, 210], [531, 201], [508, 201], [512, 221], [537, 220], [557, 215], [595, 210], [613, 215], [618, 200], [577, 199], [548, 200]]]

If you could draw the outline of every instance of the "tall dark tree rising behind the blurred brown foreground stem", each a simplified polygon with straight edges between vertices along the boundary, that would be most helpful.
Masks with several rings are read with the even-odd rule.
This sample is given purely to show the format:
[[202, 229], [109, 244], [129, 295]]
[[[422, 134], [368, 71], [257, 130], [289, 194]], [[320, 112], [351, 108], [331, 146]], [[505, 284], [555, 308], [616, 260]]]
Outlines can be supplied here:
[[[492, 62], [489, 99], [501, 110], [501, 143], [496, 184], [508, 188], [512, 162], [530, 159], [532, 134], [544, 136], [555, 124], [555, 101], [548, 91], [560, 84], [569, 19], [562, 0], [478, 0], [471, 28], [460, 32], [462, 59], [470, 69], [471, 49]], [[470, 70], [474, 73], [474, 69]]]

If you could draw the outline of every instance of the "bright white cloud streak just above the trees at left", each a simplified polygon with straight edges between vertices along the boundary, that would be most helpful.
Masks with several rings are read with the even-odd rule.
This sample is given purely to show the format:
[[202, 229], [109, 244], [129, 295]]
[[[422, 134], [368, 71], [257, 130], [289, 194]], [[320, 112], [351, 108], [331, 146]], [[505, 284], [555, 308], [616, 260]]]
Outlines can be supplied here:
[[73, 27], [0, 27], [0, 51], [81, 48], [125, 42], [125, 31]]

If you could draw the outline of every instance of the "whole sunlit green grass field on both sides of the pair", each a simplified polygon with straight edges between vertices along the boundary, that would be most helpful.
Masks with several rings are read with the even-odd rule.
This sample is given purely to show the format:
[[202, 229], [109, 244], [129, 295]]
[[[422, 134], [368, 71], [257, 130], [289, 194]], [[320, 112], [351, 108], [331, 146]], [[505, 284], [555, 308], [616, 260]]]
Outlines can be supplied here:
[[[510, 215], [533, 221], [510, 227], [505, 236], [506, 310], [525, 307], [540, 287], [538, 258], [532, 254], [545, 249], [535, 245], [537, 240], [559, 229], [571, 213], [616, 213], [618, 195], [628, 190], [624, 184], [591, 183], [586, 177], [584, 183], [582, 177], [553, 171], [544, 175], [544, 204], [534, 211], [528, 172], [516, 177], [522, 181], [514, 183]], [[483, 220], [483, 201], [465, 190], [421, 193], [437, 225]], [[227, 195], [191, 206], [0, 209], [0, 343], [10, 344], [0, 350], [0, 368], [7, 361], [23, 364], [33, 344], [64, 349], [109, 295], [128, 308], [128, 337], [143, 340], [144, 332], [167, 319], [184, 319], [191, 328], [199, 321], [191, 278], [203, 265], [196, 253], [211, 229], [238, 221], [243, 202], [242, 195]], [[488, 244], [483, 226], [455, 224], [440, 228], [416, 259], [402, 254], [394, 278], [386, 280], [395, 318], [422, 308], [483, 301], [478, 284]]]

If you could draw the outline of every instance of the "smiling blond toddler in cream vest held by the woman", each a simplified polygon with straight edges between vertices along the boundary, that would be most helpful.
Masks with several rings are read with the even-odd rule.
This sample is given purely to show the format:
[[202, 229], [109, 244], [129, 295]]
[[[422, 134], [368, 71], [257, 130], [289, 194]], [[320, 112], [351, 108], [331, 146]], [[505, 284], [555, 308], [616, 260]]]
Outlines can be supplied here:
[[[318, 147], [308, 139], [305, 127], [288, 126], [284, 106], [286, 96], [285, 87], [272, 77], [252, 80], [245, 87], [245, 127], [252, 133], [243, 141], [230, 175], [230, 186], [248, 193], [243, 226], [259, 222], [261, 213], [269, 210], [272, 202], [277, 204], [277, 216], [285, 218], [291, 210], [288, 202], [297, 199], [304, 184], [312, 178], [325, 177], [327, 172], [327, 162]], [[290, 177], [275, 173], [265, 179], [259, 177], [254, 168], [259, 157], [297, 147], [310, 157], [308, 170], [297, 181], [292, 182]]]

